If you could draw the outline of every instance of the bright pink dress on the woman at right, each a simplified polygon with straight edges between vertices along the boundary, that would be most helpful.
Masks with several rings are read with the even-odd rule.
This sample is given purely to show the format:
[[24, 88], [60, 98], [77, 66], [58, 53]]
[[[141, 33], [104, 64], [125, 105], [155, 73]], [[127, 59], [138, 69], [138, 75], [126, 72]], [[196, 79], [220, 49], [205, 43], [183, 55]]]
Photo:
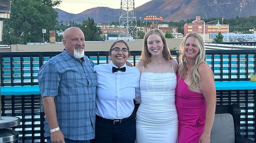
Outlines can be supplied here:
[[198, 143], [203, 134], [206, 101], [202, 93], [193, 92], [177, 74], [175, 104], [179, 119], [179, 143]]

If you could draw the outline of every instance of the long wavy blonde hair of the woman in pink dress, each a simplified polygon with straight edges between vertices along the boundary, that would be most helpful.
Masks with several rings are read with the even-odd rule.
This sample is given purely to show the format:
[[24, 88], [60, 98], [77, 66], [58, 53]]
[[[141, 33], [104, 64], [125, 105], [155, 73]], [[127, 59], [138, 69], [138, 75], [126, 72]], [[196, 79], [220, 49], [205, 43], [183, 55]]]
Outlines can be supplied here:
[[179, 66], [179, 74], [181, 75], [181, 78], [185, 77], [185, 75], [187, 74], [186, 71], [188, 71], [187, 57], [184, 51], [184, 46], [186, 44], [186, 40], [188, 37], [195, 37], [196, 45], [199, 47], [199, 53], [195, 58], [195, 64], [193, 65], [193, 67], [188, 73], [188, 79], [190, 80], [190, 85], [188, 86], [188, 88], [191, 91], [196, 91], [196, 89], [200, 89], [199, 87], [200, 75], [198, 72], [198, 68], [201, 64], [207, 64], [204, 61], [205, 59], [204, 42], [203, 42], [203, 38], [198, 33], [188, 33], [186, 37], [183, 39], [183, 41], [181, 42], [181, 46], [180, 46], [181, 55], [179, 57], [180, 61], [182, 61], [182, 64]]

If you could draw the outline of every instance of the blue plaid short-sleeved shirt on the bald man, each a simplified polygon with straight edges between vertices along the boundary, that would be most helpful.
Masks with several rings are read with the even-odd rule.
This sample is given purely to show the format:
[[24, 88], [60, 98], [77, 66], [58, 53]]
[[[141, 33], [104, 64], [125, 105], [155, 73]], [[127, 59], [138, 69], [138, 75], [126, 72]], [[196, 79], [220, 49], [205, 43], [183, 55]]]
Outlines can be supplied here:
[[[56, 115], [64, 138], [89, 140], [95, 134], [97, 75], [94, 63], [83, 57], [81, 63], [65, 50], [48, 60], [38, 72], [41, 96], [55, 96]], [[45, 136], [50, 128], [45, 119]]]

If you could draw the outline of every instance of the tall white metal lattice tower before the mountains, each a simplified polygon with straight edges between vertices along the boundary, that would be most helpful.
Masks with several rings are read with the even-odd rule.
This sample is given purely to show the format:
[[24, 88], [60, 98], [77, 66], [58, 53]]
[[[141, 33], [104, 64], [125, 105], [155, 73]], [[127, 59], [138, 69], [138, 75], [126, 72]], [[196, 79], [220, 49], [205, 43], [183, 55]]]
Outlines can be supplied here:
[[137, 39], [137, 22], [134, 0], [121, 0], [118, 37], [121, 40]]

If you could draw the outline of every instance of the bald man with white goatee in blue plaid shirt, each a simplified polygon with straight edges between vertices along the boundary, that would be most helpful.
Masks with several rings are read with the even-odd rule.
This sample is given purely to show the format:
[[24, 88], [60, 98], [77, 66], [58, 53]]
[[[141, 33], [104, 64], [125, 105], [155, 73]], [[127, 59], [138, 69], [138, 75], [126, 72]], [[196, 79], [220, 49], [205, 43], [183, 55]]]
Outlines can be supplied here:
[[63, 33], [65, 49], [38, 72], [47, 143], [89, 143], [95, 135], [97, 77], [94, 63], [84, 55], [83, 32], [70, 27]]

